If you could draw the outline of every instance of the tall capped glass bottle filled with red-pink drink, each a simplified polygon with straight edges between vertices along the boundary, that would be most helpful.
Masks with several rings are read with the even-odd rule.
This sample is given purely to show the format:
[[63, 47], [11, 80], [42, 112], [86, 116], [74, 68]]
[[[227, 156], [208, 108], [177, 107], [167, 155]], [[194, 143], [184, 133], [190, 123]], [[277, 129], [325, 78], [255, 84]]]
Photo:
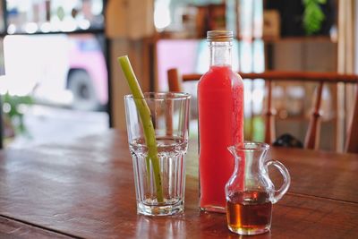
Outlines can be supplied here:
[[227, 150], [243, 142], [243, 80], [232, 70], [233, 32], [208, 31], [209, 72], [198, 84], [200, 209], [225, 212], [225, 184], [234, 171]]

